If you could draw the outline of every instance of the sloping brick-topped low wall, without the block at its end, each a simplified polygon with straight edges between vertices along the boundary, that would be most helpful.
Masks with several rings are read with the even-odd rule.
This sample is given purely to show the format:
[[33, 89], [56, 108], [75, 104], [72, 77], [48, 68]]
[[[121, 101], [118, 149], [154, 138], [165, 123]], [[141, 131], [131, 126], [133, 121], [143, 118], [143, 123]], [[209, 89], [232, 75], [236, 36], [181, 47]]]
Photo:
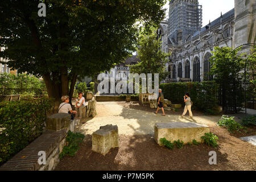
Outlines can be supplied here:
[[[44, 132], [26, 148], [0, 167], [0, 171], [51, 171], [59, 163], [70, 126], [60, 131]], [[39, 151], [46, 152], [46, 164], [39, 164]]]

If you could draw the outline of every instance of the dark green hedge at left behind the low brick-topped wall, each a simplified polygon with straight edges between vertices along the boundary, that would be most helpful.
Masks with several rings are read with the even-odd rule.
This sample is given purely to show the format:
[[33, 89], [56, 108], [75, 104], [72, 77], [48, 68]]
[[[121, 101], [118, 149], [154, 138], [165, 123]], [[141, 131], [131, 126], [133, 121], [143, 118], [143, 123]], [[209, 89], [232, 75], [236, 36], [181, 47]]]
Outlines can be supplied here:
[[0, 102], [0, 165], [42, 134], [50, 109], [48, 98]]

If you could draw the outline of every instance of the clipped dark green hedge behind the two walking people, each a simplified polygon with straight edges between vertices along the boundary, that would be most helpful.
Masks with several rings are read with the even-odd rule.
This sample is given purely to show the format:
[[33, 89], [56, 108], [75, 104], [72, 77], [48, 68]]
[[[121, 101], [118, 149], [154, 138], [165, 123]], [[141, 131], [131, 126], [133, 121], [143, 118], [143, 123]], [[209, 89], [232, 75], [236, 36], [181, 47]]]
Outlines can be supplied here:
[[218, 84], [214, 81], [204, 82], [179, 82], [160, 84], [159, 88], [164, 93], [164, 98], [174, 104], [183, 104], [185, 93], [190, 93], [193, 107], [214, 114], [218, 110]]

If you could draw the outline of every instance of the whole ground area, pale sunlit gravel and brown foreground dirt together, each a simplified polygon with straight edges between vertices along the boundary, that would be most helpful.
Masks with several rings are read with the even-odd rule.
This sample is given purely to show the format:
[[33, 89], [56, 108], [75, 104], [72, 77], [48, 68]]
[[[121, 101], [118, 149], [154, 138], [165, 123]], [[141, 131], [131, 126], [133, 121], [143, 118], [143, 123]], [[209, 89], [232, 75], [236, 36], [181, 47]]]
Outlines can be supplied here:
[[[154, 109], [138, 103], [98, 102], [97, 117], [82, 122], [77, 131], [86, 135], [80, 150], [73, 157], [65, 156], [55, 170], [252, 170], [256, 169], [256, 147], [231, 135], [226, 129], [216, 126], [221, 115], [205, 116], [193, 111], [194, 120], [181, 119], [177, 113], [167, 111], [166, 117], [154, 114]], [[184, 146], [168, 150], [156, 144], [154, 125], [157, 122], [198, 122], [210, 127], [217, 135], [219, 147], [205, 144]], [[92, 151], [92, 133], [100, 126], [118, 125], [119, 148], [113, 148], [102, 156]], [[255, 128], [251, 130], [255, 133]], [[249, 134], [247, 134], [249, 135]], [[217, 165], [210, 165], [209, 151], [216, 151]]]

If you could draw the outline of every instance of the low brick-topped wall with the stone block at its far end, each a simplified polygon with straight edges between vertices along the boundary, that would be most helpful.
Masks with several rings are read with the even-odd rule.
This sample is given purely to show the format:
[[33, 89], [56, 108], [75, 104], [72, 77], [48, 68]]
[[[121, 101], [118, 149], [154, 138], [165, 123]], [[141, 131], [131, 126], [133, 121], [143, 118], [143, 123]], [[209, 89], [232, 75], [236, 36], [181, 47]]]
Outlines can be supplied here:
[[[59, 163], [59, 154], [66, 144], [68, 131], [74, 131], [75, 121], [65, 113], [47, 117], [47, 130], [26, 148], [0, 167], [0, 171], [51, 171]], [[51, 126], [51, 127], [50, 127]], [[50, 130], [49, 130], [50, 129]], [[46, 164], [39, 164], [45, 152]], [[41, 160], [42, 161], [42, 160]]]

